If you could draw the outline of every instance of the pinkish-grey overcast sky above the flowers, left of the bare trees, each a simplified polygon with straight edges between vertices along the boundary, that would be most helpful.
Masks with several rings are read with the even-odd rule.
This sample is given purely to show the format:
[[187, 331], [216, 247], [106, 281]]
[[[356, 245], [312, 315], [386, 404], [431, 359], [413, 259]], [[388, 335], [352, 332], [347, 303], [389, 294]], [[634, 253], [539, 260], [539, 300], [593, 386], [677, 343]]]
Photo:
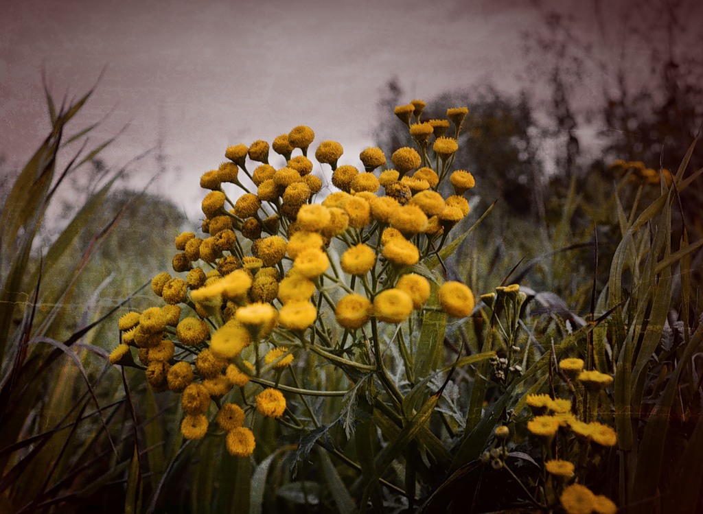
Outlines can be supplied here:
[[[356, 163], [392, 77], [405, 101], [485, 82], [517, 91], [522, 32], [540, 24], [519, 0], [0, 0], [0, 155], [20, 166], [46, 134], [42, 68], [57, 100], [104, 69], [75, 128], [107, 116], [98, 143], [126, 127], [105, 151], [110, 165], [162, 134], [181, 179], [153, 191], [186, 208], [226, 146], [298, 124], [340, 141]], [[154, 171], [143, 161], [133, 173]]]

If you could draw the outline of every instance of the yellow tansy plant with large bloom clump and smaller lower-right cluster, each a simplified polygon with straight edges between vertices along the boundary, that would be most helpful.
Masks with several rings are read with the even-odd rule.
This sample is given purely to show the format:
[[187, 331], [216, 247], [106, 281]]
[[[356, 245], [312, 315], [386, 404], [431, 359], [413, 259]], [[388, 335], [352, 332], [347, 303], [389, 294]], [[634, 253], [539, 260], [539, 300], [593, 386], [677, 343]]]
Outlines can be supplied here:
[[[273, 418], [285, 434], [298, 434], [296, 460], [316, 444], [339, 458], [356, 473], [356, 501], [347, 489], [333, 493], [340, 510], [364, 510], [369, 502], [380, 510], [389, 495], [411, 508], [427, 499], [505, 420], [501, 407], [477, 425], [485, 380], [514, 387], [527, 366], [517, 337], [526, 297], [517, 285], [481, 304], [484, 315], [494, 309], [491, 326], [502, 320], [501, 332], [482, 352], [460, 351], [445, 363], [446, 338], [458, 338], [477, 311], [470, 287], [446, 280], [444, 263], [468, 233], [454, 229], [470, 214], [475, 179], [454, 166], [467, 108], [423, 120], [424, 107], [413, 101], [395, 109], [414, 147], [389, 159], [366, 148], [340, 164], [340, 143], [318, 143], [314, 158], [332, 183], [321, 202], [327, 179], [314, 174], [311, 128], [295, 127], [270, 145], [226, 148], [226, 162], [200, 177], [207, 191], [200, 230], [175, 239], [175, 275], [152, 281], [161, 306], [124, 314], [120, 345], [110, 354], [113, 364], [143, 369], [153, 390], [180, 394], [186, 439], [221, 437], [229, 454], [251, 458], [257, 418]], [[498, 356], [498, 348], [506, 351]], [[476, 378], [468, 410], [455, 372]], [[566, 487], [569, 463], [550, 449], [568, 423], [593, 439], [586, 431], [595, 430], [589, 413], [597, 395], [592, 399], [587, 378], [578, 380], [569, 382], [578, 413], [570, 414], [567, 400], [545, 398], [554, 414], [527, 424], [545, 439], [545, 473], [563, 478], [540, 484], [541, 494], [528, 491], [529, 499], [555, 506], [562, 494], [569, 512], [578, 484]], [[344, 440], [333, 444], [337, 425]], [[503, 450], [506, 430], [496, 439]], [[503, 450], [491, 450], [489, 461], [503, 465]], [[427, 505], [437, 503], [431, 500]]]

